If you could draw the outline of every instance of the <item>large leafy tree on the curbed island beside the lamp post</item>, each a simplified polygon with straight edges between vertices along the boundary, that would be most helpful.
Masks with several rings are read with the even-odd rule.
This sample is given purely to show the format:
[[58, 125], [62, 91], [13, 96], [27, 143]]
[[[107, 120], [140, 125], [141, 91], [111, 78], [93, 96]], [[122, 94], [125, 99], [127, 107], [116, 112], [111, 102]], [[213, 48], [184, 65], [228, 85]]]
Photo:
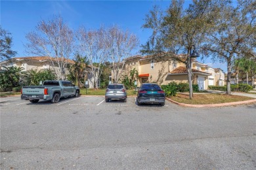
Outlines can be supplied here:
[[[194, 44], [204, 41], [205, 34], [213, 24], [213, 16], [209, 14], [212, 1], [193, 1], [184, 9], [184, 1], [172, 0], [166, 13], [154, 7], [146, 16], [144, 28], [152, 29], [152, 35], [142, 45], [143, 54], [153, 54], [155, 58], [167, 56], [186, 65], [190, 89], [190, 52]], [[177, 54], [184, 53], [184, 57]], [[192, 93], [190, 93], [190, 99]]]

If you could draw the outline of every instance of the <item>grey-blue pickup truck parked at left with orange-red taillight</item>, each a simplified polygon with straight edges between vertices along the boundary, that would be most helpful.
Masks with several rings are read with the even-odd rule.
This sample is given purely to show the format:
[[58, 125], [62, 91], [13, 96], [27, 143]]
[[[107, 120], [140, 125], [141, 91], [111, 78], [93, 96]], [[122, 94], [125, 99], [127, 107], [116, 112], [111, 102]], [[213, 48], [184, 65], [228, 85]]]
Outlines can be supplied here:
[[58, 103], [61, 97], [78, 97], [79, 92], [79, 88], [70, 81], [46, 80], [42, 86], [23, 86], [21, 99], [29, 99], [31, 103], [40, 99]]

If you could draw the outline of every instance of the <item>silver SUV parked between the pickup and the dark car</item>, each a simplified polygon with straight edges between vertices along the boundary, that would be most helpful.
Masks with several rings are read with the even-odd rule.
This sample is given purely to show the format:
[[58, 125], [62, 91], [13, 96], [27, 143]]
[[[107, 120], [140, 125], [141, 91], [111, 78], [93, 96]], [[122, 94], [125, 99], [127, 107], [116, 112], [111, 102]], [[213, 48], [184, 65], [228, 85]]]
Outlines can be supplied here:
[[121, 99], [126, 102], [127, 93], [123, 84], [109, 84], [105, 93], [105, 101], [108, 102], [110, 99]]

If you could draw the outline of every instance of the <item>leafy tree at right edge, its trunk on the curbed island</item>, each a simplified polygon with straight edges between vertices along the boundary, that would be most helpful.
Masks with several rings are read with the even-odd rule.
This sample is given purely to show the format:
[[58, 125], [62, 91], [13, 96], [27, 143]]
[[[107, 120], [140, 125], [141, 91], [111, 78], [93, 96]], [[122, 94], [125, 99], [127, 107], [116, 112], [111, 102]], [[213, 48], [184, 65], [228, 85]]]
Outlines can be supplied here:
[[227, 64], [227, 88], [230, 94], [232, 63], [241, 55], [255, 57], [256, 1], [216, 1], [210, 12], [215, 16], [213, 27], [207, 33], [203, 49], [213, 61]]

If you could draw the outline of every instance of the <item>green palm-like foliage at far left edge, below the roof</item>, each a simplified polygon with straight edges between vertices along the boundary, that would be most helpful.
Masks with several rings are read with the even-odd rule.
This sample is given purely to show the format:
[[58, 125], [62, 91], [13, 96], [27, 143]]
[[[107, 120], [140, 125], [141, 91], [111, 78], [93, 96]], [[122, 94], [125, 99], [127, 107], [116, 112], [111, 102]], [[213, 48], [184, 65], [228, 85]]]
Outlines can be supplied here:
[[26, 72], [22, 71], [22, 67], [5, 67], [0, 73], [0, 87], [12, 88], [20, 86], [22, 76], [26, 75]]

